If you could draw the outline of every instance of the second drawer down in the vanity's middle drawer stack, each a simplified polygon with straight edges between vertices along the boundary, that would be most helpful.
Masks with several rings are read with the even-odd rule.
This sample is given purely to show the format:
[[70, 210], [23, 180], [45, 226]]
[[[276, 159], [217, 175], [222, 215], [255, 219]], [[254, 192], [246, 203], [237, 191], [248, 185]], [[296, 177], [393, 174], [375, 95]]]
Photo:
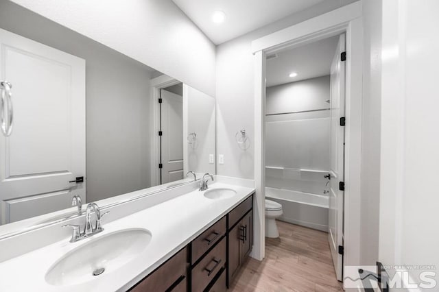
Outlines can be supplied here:
[[192, 269], [192, 291], [203, 291], [226, 263], [226, 239], [222, 239], [209, 254]]

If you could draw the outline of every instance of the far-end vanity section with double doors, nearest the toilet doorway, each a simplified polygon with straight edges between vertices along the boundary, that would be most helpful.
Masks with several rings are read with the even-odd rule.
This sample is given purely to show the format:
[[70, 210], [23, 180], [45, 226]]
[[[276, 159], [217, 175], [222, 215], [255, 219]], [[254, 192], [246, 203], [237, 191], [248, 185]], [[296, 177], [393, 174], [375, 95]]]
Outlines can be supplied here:
[[228, 230], [228, 285], [252, 251], [253, 212], [252, 196], [229, 213]]

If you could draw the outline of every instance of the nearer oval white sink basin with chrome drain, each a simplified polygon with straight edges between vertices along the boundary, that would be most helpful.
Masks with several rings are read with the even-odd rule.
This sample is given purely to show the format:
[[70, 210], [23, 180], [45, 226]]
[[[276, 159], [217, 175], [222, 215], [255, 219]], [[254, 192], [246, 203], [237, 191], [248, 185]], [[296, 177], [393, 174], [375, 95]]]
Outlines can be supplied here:
[[121, 268], [141, 254], [151, 241], [148, 230], [112, 232], [71, 250], [47, 271], [46, 282], [54, 286], [81, 284]]

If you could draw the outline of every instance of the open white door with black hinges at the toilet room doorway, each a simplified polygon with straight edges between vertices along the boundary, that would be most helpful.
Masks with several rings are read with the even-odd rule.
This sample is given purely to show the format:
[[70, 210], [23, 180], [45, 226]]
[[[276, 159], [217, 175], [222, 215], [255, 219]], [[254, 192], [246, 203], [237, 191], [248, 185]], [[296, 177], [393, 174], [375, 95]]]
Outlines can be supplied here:
[[343, 196], [340, 182], [344, 183], [344, 127], [340, 118], [344, 117], [344, 74], [345, 62], [341, 60], [345, 51], [345, 36], [340, 36], [337, 50], [331, 64], [331, 169], [329, 191], [329, 245], [337, 280], [342, 280], [343, 256], [339, 246], [343, 246]]

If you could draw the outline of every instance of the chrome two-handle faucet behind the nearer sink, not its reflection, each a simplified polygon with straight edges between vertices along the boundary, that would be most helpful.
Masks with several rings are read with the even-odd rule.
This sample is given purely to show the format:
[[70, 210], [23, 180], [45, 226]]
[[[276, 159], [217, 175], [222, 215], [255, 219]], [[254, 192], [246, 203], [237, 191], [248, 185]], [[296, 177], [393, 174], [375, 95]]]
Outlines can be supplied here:
[[[93, 227], [93, 224], [91, 223], [91, 213], [95, 212], [96, 217], [96, 223]], [[108, 212], [105, 212], [101, 215], [101, 210], [99, 209], [99, 206], [97, 206], [96, 203], [90, 203], [87, 205], [86, 208], [86, 214], [85, 214], [85, 227], [84, 232], [81, 232], [79, 225], [64, 225], [62, 227], [70, 227], [73, 230], [73, 233], [71, 235], [70, 242], [75, 243], [76, 241], [80, 241], [81, 239], [85, 239], [89, 236], [92, 236], [94, 234], [97, 234], [99, 232], [104, 231], [104, 228], [102, 228], [102, 217], [106, 215]]]

